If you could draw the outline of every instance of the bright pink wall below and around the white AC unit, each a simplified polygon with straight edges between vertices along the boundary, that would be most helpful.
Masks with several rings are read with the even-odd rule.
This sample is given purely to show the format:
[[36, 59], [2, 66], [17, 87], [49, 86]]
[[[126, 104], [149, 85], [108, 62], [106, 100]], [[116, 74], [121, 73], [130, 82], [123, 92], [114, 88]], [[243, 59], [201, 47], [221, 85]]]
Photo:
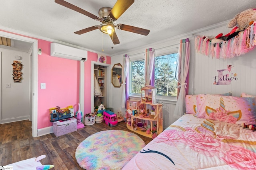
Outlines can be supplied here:
[[[4, 30], [1, 30], [4, 31]], [[5, 31], [11, 33], [9, 31]], [[20, 35], [17, 33], [13, 33]], [[24, 36], [24, 35], [21, 35]], [[28, 36], [24, 36], [28, 37]], [[33, 37], [29, 37], [36, 39]], [[38, 129], [52, 126], [49, 109], [51, 107], [74, 106], [75, 112], [79, 102], [80, 62], [50, 56], [50, 41], [38, 40]], [[37, 50], [37, 49], [35, 49]], [[91, 61], [97, 61], [97, 53], [88, 51], [88, 60], [84, 62], [84, 112], [91, 112]], [[107, 64], [111, 57], [107, 56]], [[40, 83], [46, 83], [46, 89], [40, 89]]]

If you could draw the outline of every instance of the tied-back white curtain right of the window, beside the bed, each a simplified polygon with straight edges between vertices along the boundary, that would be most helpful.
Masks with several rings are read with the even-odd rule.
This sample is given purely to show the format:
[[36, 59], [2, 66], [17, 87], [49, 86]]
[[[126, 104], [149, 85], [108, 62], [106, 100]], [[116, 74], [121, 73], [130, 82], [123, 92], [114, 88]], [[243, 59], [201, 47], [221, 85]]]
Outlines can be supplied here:
[[176, 68], [176, 79], [178, 81], [178, 99], [176, 103], [176, 107], [174, 109], [174, 118], [180, 118], [185, 112], [185, 96], [186, 96], [186, 88], [187, 83], [186, 79], [188, 76], [188, 68], [189, 68], [189, 60], [190, 60], [190, 47], [189, 47], [189, 39], [180, 40], [180, 47], [178, 52], [177, 59], [177, 68]]

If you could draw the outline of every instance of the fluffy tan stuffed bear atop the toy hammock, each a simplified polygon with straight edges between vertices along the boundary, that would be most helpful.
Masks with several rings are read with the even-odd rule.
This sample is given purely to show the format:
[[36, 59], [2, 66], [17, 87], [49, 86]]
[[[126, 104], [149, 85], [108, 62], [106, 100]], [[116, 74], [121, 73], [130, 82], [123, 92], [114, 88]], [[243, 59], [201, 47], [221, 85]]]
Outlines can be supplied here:
[[244, 31], [244, 29], [250, 26], [249, 23], [251, 21], [256, 21], [256, 9], [249, 8], [240, 14], [236, 14], [236, 16], [228, 23], [227, 27], [232, 28], [237, 26], [238, 29], [236, 29], [236, 31]]

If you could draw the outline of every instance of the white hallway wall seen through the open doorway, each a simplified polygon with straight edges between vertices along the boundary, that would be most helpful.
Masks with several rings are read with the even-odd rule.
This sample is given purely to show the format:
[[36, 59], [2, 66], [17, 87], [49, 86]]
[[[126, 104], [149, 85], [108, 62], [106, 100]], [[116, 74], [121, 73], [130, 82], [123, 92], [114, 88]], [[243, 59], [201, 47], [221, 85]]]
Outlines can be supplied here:
[[[28, 53], [0, 49], [2, 52], [2, 123], [26, 120], [30, 117], [30, 58]], [[22, 57], [22, 82], [14, 83], [12, 63], [14, 57]], [[11, 88], [6, 88], [6, 83]]]

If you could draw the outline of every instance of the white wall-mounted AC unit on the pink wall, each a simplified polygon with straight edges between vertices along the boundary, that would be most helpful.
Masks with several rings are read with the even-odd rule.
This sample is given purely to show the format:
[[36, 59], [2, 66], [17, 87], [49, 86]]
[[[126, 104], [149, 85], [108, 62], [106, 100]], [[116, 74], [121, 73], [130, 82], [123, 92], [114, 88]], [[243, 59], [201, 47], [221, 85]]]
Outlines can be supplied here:
[[58, 43], [51, 43], [51, 56], [77, 61], [86, 61], [87, 51]]

